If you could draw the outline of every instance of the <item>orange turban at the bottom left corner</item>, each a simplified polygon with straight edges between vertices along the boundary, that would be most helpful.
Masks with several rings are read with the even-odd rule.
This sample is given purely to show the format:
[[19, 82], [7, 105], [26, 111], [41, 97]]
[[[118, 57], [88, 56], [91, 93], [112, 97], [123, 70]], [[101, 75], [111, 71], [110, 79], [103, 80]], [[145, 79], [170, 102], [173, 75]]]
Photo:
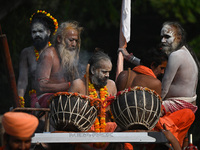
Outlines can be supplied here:
[[5, 132], [16, 137], [31, 137], [38, 123], [35, 116], [23, 112], [7, 112], [2, 118]]

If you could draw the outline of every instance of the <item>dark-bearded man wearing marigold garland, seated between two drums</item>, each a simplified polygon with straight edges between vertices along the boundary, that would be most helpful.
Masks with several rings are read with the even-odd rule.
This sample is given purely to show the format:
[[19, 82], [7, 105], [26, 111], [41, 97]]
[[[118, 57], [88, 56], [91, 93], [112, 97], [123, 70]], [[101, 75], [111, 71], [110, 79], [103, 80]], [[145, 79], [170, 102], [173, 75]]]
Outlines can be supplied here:
[[[87, 83], [86, 77], [76, 79], [72, 82], [69, 91], [87, 95], [88, 90], [90, 97], [99, 98], [102, 101], [110, 95], [115, 95], [117, 93], [115, 82], [109, 79], [109, 73], [112, 69], [110, 57], [102, 51], [97, 51], [88, 63], [90, 64], [89, 83]], [[113, 132], [117, 125], [115, 122], [110, 122], [111, 118], [108, 117], [110, 115], [110, 109], [106, 107], [106, 109], [102, 110], [104, 111], [103, 116], [96, 119], [91, 130], [95, 132]]]

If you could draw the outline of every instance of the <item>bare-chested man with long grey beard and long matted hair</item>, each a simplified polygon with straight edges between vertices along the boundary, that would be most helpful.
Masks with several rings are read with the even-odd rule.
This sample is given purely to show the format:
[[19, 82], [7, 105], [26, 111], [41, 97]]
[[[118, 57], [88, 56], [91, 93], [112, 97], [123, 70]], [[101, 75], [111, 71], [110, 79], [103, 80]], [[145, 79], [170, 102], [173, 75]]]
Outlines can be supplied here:
[[81, 32], [78, 22], [64, 22], [54, 37], [55, 47], [42, 51], [36, 70], [38, 99], [34, 101], [40, 107], [48, 107], [47, 100], [53, 93], [67, 91], [78, 78]]

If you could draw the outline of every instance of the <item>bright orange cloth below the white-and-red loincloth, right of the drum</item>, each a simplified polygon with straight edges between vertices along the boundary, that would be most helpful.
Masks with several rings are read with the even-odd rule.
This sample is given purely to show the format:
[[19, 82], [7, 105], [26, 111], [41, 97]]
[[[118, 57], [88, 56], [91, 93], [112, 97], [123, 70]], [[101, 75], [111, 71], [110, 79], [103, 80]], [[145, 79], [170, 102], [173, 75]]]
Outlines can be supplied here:
[[154, 130], [160, 131], [165, 123], [167, 129], [172, 132], [182, 147], [183, 140], [194, 120], [195, 115], [190, 109], [181, 109], [173, 113], [167, 112], [165, 116], [160, 117]]

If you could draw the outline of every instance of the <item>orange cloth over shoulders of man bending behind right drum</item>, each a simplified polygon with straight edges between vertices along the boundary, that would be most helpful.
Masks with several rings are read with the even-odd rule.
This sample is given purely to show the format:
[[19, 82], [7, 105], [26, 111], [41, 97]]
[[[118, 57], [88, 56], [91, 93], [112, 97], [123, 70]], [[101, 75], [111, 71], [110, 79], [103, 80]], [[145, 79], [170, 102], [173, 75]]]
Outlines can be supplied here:
[[153, 73], [153, 71], [150, 68], [143, 66], [143, 65], [134, 67], [133, 71], [157, 78], [156, 75]]

